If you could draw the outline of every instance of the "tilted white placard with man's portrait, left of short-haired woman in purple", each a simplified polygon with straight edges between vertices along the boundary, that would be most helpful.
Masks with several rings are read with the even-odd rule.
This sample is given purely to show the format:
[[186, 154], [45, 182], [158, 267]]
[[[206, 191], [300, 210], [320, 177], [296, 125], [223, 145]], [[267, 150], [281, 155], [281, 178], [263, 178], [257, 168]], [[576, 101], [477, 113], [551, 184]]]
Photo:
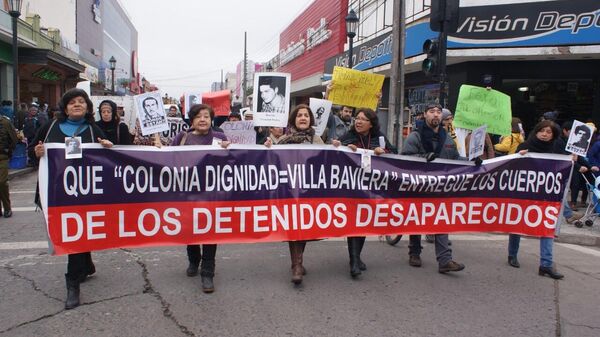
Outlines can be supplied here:
[[169, 129], [160, 92], [149, 92], [134, 96], [134, 98], [143, 135]]

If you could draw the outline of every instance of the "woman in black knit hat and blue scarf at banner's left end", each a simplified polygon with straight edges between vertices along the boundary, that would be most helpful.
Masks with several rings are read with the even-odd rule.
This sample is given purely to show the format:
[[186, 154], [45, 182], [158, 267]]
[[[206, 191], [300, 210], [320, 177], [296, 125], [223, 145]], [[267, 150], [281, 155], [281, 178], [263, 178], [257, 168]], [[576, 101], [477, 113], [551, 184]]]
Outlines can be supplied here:
[[[81, 89], [67, 91], [60, 100], [61, 112], [51, 123], [44, 125], [33, 139], [36, 144], [30, 151], [37, 158], [44, 155], [45, 143], [65, 144], [65, 138], [80, 137], [81, 143], [100, 143], [110, 148], [112, 142], [104, 139], [104, 133], [94, 123], [93, 104], [88, 94]], [[69, 254], [67, 262], [67, 300], [65, 309], [73, 309], [79, 305], [79, 285], [87, 276], [96, 272], [90, 252]]]

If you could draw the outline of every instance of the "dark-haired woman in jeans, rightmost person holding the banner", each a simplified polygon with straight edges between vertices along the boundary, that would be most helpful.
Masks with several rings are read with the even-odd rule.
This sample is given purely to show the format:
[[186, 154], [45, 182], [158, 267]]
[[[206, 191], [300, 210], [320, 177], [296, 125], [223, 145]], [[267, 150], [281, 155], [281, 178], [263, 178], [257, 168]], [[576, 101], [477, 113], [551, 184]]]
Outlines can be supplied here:
[[[554, 141], [559, 137], [560, 129], [550, 120], [539, 122], [534, 128], [529, 138], [517, 147], [517, 152], [524, 155], [527, 152], [536, 153], [554, 153]], [[517, 253], [519, 252], [519, 243], [521, 236], [518, 234], [510, 234], [508, 237], [508, 264], [512, 267], [519, 268], [519, 260]], [[564, 275], [557, 272], [552, 267], [552, 246], [554, 238], [540, 238], [540, 268], [539, 275], [548, 275], [553, 279], [560, 280]]]

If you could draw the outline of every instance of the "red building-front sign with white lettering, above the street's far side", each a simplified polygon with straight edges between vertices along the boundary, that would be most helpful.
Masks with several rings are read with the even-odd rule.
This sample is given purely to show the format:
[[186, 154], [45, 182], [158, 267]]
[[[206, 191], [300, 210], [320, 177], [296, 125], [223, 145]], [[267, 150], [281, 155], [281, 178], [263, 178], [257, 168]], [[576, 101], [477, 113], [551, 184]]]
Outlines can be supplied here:
[[279, 35], [279, 68], [292, 81], [319, 74], [344, 51], [348, 1], [316, 0]]

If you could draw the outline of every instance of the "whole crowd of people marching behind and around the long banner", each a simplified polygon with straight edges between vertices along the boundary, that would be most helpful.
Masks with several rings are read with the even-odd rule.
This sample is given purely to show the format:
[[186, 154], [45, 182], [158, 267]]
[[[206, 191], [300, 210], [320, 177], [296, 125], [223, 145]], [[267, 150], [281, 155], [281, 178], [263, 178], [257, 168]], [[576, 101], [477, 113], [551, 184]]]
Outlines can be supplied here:
[[[22, 134], [21, 137], [27, 139], [31, 158], [39, 159], [44, 155], [45, 143], [64, 143], [65, 139], [69, 137], [81, 137], [83, 143], [99, 143], [106, 148], [113, 145], [130, 144], [167, 145], [156, 138], [150, 138], [150, 141], [142, 142], [140, 139], [144, 137], [139, 137], [140, 139], [132, 137], [127, 126], [120, 122], [116, 104], [110, 100], [100, 103], [98, 107], [100, 120], [95, 121], [92, 101], [87, 93], [80, 89], [67, 91], [60, 100], [59, 108], [44, 111], [44, 114], [39, 113], [39, 107], [32, 105], [28, 107], [26, 115], [23, 116], [26, 107], [23, 108], [18, 116], [8, 116], [2, 110], [4, 117], [1, 119], [2, 124], [0, 124], [2, 128], [0, 129], [0, 141], [2, 141], [4, 149], [14, 147], [14, 144], [18, 141], [14, 132], [16, 129]], [[172, 109], [172, 111], [169, 111], [169, 115], [174, 116], [177, 109], [174, 107]], [[228, 147], [230, 143], [227, 136], [215, 126], [214, 112], [209, 105], [193, 105], [189, 108], [187, 114], [189, 116], [189, 129], [180, 132], [168, 145], [210, 145], [213, 143], [214, 138], [218, 138], [221, 140], [221, 147]], [[251, 116], [251, 113], [246, 113], [244, 118], [249, 116]], [[512, 122], [511, 135], [496, 139], [495, 145], [492, 137], [486, 135], [484, 154], [474, 160], [475, 165], [480, 165], [482, 159], [492, 158], [495, 155], [525, 154], [527, 151], [564, 153], [564, 138], [568, 137], [572, 123], [563, 123], [561, 130], [550, 118], [552, 116], [545, 115], [544, 117], [543, 121], [533, 127], [526, 140], [520, 121], [516, 118]], [[443, 109], [440, 105], [427, 106], [423, 115], [419, 116], [416, 127], [406, 138], [404, 146], [398, 151], [380, 130], [379, 118], [372, 109], [347, 106], [339, 108], [335, 114], [331, 114], [328, 122], [329, 127], [325, 134], [320, 137], [315, 134], [316, 121], [310, 107], [300, 104], [291, 110], [286, 128], [256, 128], [257, 143], [264, 144], [265, 147], [281, 144], [328, 143], [335, 147], [346, 146], [353, 151], [357, 149], [373, 150], [375, 155], [400, 153], [402, 155], [418, 156], [425, 158], [428, 162], [436, 158], [466, 160], [465, 157], [459, 154], [457, 145], [460, 146], [460, 144], [452, 126], [452, 118], [452, 113], [447, 109]], [[236, 112], [229, 117], [229, 120], [232, 121], [241, 119], [242, 116]], [[593, 155], [594, 149], [596, 149], [596, 155]], [[0, 154], [0, 164], [5, 165], [8, 158], [9, 153]], [[598, 171], [599, 164], [600, 142], [597, 142], [592, 146], [589, 161], [585, 158], [577, 158], [576, 169], [582, 173]], [[7, 217], [10, 216], [10, 201], [8, 200], [8, 185], [5, 173], [6, 170], [4, 169], [0, 172], [0, 196], [5, 210], [4, 216]], [[573, 185], [571, 190], [574, 191]], [[575, 194], [572, 201], [575, 202], [576, 198], [577, 195]], [[571, 222], [577, 215], [573, 214], [570, 205], [566, 206], [563, 215], [567, 218], [567, 221]], [[9, 213], [7, 213], [7, 210]], [[516, 268], [520, 266], [517, 258], [519, 239], [519, 235], [511, 234], [508, 246], [508, 264]], [[440, 273], [458, 272], [465, 268], [464, 264], [453, 259], [448, 234], [428, 236], [428, 240], [435, 243], [435, 254]], [[291, 259], [291, 280], [295, 284], [300, 284], [307, 273], [303, 263], [306, 244], [307, 241], [288, 242]], [[350, 275], [353, 278], [357, 278], [367, 269], [367, 266], [361, 260], [361, 251], [364, 244], [365, 237], [348, 238]], [[553, 238], [540, 239], [539, 275], [561, 279], [563, 275], [553, 268], [552, 246]], [[192, 244], [187, 246], [189, 265], [186, 273], [188, 276], [195, 276], [200, 273], [202, 290], [206, 293], [214, 291], [213, 278], [216, 250], [217, 245], [215, 244]], [[421, 250], [421, 235], [411, 235], [408, 252], [410, 266], [422, 266]], [[68, 255], [67, 273], [65, 274], [66, 309], [72, 309], [79, 305], [80, 284], [95, 272], [96, 268], [91, 253]]]

